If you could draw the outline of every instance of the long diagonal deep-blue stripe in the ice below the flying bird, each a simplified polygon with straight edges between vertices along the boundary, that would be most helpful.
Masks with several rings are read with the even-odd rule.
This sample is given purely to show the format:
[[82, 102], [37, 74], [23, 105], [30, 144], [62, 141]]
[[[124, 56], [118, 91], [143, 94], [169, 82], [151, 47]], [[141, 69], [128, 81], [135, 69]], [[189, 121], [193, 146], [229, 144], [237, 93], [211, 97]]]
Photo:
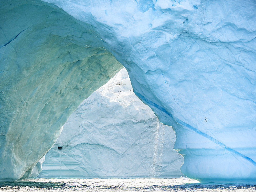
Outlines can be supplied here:
[[156, 103], [154, 103], [154, 102], [148, 100], [147, 98], [145, 98], [145, 97], [144, 97], [143, 95], [141, 95], [140, 93], [138, 93], [138, 92], [136, 92], [136, 91], [134, 91], [134, 93], [135, 93], [140, 99], [144, 100], [144, 101], [147, 102], [148, 104], [150, 104], [150, 105], [156, 107], [157, 109], [159, 109], [159, 110], [163, 111], [164, 113], [166, 113], [167, 115], [169, 115], [169, 116], [170, 116], [171, 118], [173, 118], [177, 123], [188, 127], [188, 128], [191, 129], [192, 131], [195, 131], [196, 133], [202, 135], [203, 137], [206, 137], [206, 138], [209, 139], [210, 141], [216, 143], [216, 144], [219, 145], [220, 147], [225, 148], [225, 149], [228, 150], [229, 152], [234, 153], [234, 154], [236, 154], [236, 155], [239, 155], [240, 157], [246, 159], [246, 160], [249, 161], [251, 164], [253, 164], [254, 166], [256, 166], [256, 162], [253, 161], [250, 157], [247, 157], [247, 156], [245, 156], [245, 155], [239, 153], [238, 151], [236, 151], [236, 150], [234, 150], [234, 149], [232, 149], [232, 148], [226, 146], [224, 143], [222, 143], [222, 142], [216, 140], [216, 139], [213, 138], [212, 136], [210, 136], [210, 135], [208, 135], [208, 134], [206, 134], [206, 133], [204, 133], [204, 132], [202, 132], [202, 131], [196, 129], [195, 127], [193, 127], [193, 126], [191, 126], [191, 125], [185, 123], [184, 121], [179, 120], [178, 118], [175, 118], [175, 117], [174, 117], [172, 114], [170, 114], [166, 109], [164, 109], [163, 107], [159, 106], [158, 104], [156, 104]]

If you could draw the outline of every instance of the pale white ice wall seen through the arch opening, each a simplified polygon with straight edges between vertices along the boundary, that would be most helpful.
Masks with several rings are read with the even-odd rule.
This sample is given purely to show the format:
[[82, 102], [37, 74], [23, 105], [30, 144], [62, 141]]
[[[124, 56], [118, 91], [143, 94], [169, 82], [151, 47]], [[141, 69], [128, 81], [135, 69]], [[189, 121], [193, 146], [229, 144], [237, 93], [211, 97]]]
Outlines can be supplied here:
[[38, 177], [184, 176], [183, 157], [173, 150], [174, 142], [172, 127], [159, 123], [133, 93], [122, 69], [71, 114]]

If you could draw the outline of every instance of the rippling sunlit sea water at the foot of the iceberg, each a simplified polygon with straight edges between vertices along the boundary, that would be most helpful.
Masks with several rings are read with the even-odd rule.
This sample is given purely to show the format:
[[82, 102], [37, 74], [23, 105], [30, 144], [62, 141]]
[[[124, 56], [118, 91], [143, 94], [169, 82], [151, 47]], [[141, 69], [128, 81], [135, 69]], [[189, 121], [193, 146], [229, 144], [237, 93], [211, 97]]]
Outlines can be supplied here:
[[193, 179], [26, 179], [0, 182], [0, 191], [256, 191], [256, 184], [201, 184]]

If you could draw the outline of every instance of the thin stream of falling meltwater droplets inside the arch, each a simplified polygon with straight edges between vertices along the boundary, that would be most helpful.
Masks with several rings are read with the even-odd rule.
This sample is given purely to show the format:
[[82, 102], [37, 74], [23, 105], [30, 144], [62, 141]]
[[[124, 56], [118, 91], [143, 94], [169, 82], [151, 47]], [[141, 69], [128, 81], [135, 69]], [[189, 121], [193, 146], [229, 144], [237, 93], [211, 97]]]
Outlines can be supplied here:
[[157, 119], [156, 130], [154, 132], [153, 162], [151, 167], [151, 178], [158, 178], [161, 174], [164, 147], [164, 126], [161, 126]]

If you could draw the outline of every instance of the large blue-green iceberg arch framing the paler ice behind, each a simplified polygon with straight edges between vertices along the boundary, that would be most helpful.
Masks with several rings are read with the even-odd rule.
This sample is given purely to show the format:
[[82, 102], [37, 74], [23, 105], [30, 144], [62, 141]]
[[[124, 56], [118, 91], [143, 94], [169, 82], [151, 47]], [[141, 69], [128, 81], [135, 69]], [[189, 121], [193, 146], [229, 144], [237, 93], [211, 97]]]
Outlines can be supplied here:
[[1, 179], [29, 175], [114, 56], [174, 127], [183, 174], [256, 182], [255, 1], [45, 2], [0, 3]]

